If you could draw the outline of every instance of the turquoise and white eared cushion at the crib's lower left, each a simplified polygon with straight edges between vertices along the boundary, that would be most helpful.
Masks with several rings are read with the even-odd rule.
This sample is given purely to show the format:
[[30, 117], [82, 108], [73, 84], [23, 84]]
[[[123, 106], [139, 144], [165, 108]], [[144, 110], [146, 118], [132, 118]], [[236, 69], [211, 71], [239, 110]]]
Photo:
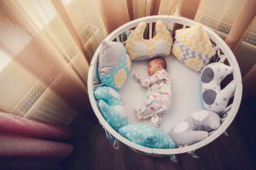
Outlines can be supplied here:
[[114, 130], [118, 131], [128, 123], [125, 107], [118, 92], [113, 88], [102, 86], [96, 88], [94, 95], [99, 102], [102, 116]]

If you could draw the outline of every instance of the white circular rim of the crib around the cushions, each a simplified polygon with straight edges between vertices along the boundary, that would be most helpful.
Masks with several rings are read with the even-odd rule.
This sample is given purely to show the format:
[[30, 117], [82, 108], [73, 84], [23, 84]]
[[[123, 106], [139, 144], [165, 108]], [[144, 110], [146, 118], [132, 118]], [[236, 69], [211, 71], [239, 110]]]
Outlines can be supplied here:
[[[155, 16], [148, 16], [143, 17], [137, 20], [132, 20], [128, 23], [126, 23], [123, 26], [120, 26], [118, 29], [113, 31], [111, 34], [108, 35], [108, 37], [105, 38], [105, 41], [113, 41], [116, 39], [119, 40], [119, 35], [124, 33], [125, 31], [130, 30], [133, 27], [136, 27], [138, 23], [144, 21], [149, 24], [149, 38], [152, 37], [152, 23], [156, 22], [157, 20], [162, 20], [163, 23], [166, 25], [167, 29], [172, 30], [175, 23], [185, 26], [195, 26], [199, 23], [195, 22], [194, 20], [185, 19], [183, 17], [173, 16], [173, 15], [155, 15]], [[131, 149], [137, 150], [143, 154], [151, 155], [151, 156], [168, 156], [168, 155], [174, 155], [174, 154], [181, 154], [185, 152], [190, 152], [193, 150], [197, 150], [209, 143], [211, 143], [214, 139], [217, 139], [219, 135], [225, 132], [225, 130], [230, 126], [230, 123], [234, 120], [236, 113], [239, 109], [240, 103], [241, 103], [241, 94], [242, 94], [242, 84], [241, 84], [241, 72], [240, 68], [237, 64], [236, 57], [230, 50], [230, 48], [227, 46], [227, 44], [218, 37], [218, 35], [213, 32], [210, 28], [207, 26], [203, 26], [203, 29], [207, 31], [208, 36], [212, 40], [212, 42], [215, 42], [218, 45], [218, 48], [222, 50], [222, 52], [225, 54], [226, 59], [228, 59], [230, 65], [234, 68], [233, 71], [233, 77], [234, 82], [236, 83], [236, 91], [234, 94], [234, 100], [233, 104], [230, 108], [230, 111], [228, 112], [228, 116], [226, 117], [225, 121], [222, 123], [222, 125], [218, 128], [218, 130], [212, 135], [210, 135], [207, 139], [202, 140], [201, 142], [198, 142], [196, 144], [192, 144], [183, 148], [176, 148], [176, 149], [152, 149], [148, 147], [144, 147], [139, 144], [135, 144], [131, 142], [128, 139], [125, 139], [123, 136], [121, 136], [119, 133], [117, 133], [115, 130], [113, 130], [112, 127], [109, 126], [108, 122], [105, 121], [104, 117], [102, 116], [101, 111], [99, 110], [96, 99], [94, 97], [94, 77], [96, 74], [96, 67], [97, 67], [97, 60], [99, 51], [102, 45], [100, 45], [96, 49], [96, 53], [93, 56], [93, 59], [90, 62], [90, 69], [89, 69], [89, 75], [88, 75], [88, 94], [90, 98], [90, 104], [93, 108], [93, 111], [95, 111], [95, 114], [99, 120], [99, 122], [102, 124], [102, 127], [104, 127], [109, 133], [113, 135], [113, 137], [123, 144], [128, 145], [131, 147]]]

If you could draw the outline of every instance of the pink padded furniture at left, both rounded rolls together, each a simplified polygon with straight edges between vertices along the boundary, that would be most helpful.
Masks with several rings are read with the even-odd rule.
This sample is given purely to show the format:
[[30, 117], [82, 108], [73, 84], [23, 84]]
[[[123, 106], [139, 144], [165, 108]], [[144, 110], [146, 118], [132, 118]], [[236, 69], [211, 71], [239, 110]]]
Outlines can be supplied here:
[[31, 159], [26, 158], [32, 158], [38, 162], [58, 163], [73, 151], [71, 144], [60, 141], [70, 136], [70, 127], [34, 122], [0, 112], [0, 162], [15, 158], [17, 162], [27, 160], [29, 163]]

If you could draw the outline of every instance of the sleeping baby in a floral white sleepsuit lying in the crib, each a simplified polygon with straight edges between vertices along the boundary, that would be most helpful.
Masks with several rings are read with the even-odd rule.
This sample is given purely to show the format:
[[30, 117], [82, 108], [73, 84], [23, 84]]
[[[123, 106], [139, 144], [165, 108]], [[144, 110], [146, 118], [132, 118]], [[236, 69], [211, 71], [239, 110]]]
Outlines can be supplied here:
[[171, 80], [166, 71], [166, 60], [160, 57], [148, 62], [149, 77], [143, 78], [134, 75], [141, 86], [148, 88], [146, 105], [143, 109], [136, 110], [139, 120], [150, 118], [150, 122], [159, 127], [160, 116], [169, 109], [171, 104]]

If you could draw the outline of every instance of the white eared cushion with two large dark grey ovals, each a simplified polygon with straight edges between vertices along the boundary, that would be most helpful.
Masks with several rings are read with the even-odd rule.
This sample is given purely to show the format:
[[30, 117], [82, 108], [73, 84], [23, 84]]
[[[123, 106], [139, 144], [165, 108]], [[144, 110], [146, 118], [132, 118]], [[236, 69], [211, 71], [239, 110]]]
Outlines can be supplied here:
[[221, 114], [234, 94], [235, 83], [229, 83], [224, 89], [220, 89], [220, 82], [231, 74], [233, 68], [223, 63], [211, 63], [201, 72], [201, 96], [202, 102], [208, 111]]

